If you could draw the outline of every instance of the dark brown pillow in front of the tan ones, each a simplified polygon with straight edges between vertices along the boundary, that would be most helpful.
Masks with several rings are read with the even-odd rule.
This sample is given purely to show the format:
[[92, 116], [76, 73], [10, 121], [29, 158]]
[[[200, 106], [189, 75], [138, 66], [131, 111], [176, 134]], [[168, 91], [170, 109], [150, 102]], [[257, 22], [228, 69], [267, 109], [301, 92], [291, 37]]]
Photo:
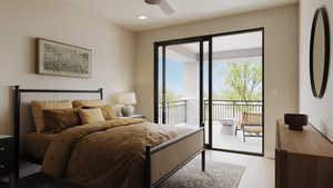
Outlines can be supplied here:
[[77, 109], [43, 110], [46, 131], [59, 133], [68, 128], [81, 125]]

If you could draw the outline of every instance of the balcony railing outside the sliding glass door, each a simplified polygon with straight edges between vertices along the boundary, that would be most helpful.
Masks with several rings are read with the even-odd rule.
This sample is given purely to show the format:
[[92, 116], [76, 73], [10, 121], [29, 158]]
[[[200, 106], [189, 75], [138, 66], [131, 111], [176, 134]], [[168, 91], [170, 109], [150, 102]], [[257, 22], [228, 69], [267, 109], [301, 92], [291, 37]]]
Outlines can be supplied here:
[[[162, 106], [159, 107], [159, 122], [162, 122]], [[240, 119], [243, 112], [262, 112], [261, 100], [213, 100], [213, 121], [223, 119]], [[199, 110], [199, 107], [198, 107]], [[195, 110], [194, 110], [195, 111]], [[165, 123], [186, 123], [188, 117], [199, 115], [188, 115], [188, 100], [170, 100], [165, 103]], [[204, 120], [209, 119], [209, 100], [204, 100]]]

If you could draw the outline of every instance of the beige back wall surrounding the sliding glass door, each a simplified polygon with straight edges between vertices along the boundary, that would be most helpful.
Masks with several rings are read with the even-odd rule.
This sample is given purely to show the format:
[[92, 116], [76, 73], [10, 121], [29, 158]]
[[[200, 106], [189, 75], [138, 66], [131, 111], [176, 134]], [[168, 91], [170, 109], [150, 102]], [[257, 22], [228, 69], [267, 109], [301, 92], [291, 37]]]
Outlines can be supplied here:
[[274, 156], [275, 119], [299, 108], [299, 9], [287, 6], [139, 33], [135, 87], [139, 111], [153, 118], [153, 42], [265, 28], [265, 155]]

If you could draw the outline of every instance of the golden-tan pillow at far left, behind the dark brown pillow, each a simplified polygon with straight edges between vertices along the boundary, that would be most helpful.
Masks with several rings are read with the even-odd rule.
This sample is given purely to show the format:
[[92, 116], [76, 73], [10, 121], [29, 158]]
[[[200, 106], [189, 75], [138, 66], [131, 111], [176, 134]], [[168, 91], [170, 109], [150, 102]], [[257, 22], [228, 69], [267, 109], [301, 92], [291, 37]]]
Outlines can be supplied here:
[[31, 101], [30, 105], [37, 132], [46, 131], [43, 110], [73, 108], [72, 102], [69, 100]]

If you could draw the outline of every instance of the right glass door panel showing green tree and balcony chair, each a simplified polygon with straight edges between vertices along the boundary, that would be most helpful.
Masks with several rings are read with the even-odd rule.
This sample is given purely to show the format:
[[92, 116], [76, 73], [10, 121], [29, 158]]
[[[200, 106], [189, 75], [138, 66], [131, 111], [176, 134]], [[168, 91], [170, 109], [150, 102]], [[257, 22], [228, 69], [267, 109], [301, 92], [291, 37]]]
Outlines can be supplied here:
[[212, 42], [212, 147], [262, 154], [262, 31]]

